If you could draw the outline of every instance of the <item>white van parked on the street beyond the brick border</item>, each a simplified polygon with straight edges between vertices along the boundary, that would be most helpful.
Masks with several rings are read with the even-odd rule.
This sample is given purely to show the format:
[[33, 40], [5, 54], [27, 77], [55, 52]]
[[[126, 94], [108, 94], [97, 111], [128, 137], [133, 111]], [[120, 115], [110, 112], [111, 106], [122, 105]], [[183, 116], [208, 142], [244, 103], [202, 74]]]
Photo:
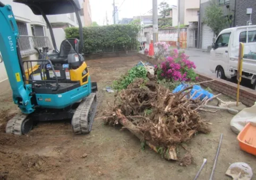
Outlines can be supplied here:
[[256, 25], [221, 31], [210, 51], [210, 70], [221, 79], [235, 78], [240, 42], [244, 43], [242, 78], [251, 79], [256, 89]]

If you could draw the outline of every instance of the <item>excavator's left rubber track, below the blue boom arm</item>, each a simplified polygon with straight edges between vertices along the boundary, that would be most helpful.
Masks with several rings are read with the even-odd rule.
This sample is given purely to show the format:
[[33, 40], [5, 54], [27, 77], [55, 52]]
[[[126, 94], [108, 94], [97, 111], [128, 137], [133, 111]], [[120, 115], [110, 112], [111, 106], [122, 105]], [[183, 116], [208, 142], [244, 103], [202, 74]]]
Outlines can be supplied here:
[[33, 127], [33, 122], [28, 118], [28, 114], [18, 113], [6, 124], [6, 133], [22, 135], [27, 134]]

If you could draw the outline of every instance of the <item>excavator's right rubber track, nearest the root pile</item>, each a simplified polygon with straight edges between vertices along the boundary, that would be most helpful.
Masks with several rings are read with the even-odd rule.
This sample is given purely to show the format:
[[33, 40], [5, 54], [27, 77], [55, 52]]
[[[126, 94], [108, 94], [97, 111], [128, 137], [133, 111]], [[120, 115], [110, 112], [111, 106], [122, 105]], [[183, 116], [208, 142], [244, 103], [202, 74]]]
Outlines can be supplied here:
[[75, 134], [88, 134], [91, 132], [96, 110], [97, 97], [95, 93], [91, 93], [81, 101], [73, 115], [72, 128]]

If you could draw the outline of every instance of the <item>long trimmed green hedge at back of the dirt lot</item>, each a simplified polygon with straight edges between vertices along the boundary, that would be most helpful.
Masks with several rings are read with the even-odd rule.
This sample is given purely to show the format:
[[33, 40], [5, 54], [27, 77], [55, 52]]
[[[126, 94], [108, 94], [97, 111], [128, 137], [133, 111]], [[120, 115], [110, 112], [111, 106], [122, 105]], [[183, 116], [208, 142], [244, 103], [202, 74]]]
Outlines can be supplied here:
[[[83, 53], [137, 50], [138, 32], [138, 26], [131, 24], [84, 27]], [[66, 38], [79, 39], [78, 28], [66, 28], [65, 33]]]

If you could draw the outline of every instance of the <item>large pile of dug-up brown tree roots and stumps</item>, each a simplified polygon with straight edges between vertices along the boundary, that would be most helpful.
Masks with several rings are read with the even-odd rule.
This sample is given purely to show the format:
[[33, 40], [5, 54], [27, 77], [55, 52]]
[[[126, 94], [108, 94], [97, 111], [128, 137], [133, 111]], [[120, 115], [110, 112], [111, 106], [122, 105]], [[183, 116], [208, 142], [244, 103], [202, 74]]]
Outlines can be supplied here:
[[203, 107], [210, 99], [192, 99], [196, 93], [188, 97], [191, 88], [173, 94], [155, 81], [136, 79], [115, 95], [103, 119], [109, 125], [122, 124], [165, 159], [178, 160], [178, 145], [195, 133], [210, 132], [199, 115], [199, 111], [210, 111]]

